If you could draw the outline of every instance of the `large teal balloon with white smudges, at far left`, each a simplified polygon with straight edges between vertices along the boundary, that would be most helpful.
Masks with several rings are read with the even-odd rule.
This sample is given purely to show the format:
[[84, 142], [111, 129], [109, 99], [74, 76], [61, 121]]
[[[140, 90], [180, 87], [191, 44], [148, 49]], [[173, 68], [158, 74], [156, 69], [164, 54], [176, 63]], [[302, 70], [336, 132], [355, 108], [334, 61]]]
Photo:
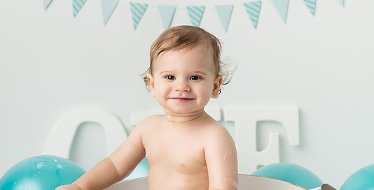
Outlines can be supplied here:
[[60, 156], [33, 156], [10, 168], [0, 179], [0, 189], [54, 190], [71, 184], [85, 170], [69, 159]]

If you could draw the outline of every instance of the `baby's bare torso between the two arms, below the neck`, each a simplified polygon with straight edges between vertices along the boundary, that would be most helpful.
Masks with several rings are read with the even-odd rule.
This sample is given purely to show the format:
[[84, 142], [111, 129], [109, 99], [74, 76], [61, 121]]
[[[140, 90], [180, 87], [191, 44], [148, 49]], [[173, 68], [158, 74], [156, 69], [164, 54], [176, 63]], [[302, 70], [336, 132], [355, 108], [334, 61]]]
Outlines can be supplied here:
[[149, 165], [148, 189], [208, 189], [204, 127], [157, 122], [148, 127], [141, 133]]

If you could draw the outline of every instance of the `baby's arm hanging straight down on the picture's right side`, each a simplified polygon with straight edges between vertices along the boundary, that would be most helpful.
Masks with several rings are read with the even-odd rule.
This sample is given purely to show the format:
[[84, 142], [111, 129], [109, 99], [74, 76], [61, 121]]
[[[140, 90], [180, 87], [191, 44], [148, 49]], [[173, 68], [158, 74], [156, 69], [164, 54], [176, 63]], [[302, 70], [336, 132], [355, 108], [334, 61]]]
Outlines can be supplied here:
[[215, 126], [205, 145], [210, 189], [237, 190], [237, 151], [230, 133]]

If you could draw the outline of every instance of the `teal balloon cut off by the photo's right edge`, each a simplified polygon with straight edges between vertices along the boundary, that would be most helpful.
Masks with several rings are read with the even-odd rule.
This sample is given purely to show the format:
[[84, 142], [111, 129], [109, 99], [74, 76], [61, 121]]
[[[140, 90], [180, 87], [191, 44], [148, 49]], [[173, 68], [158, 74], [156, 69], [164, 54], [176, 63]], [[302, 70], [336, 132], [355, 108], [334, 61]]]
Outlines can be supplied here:
[[374, 189], [374, 164], [365, 166], [342, 184], [340, 190], [373, 190]]

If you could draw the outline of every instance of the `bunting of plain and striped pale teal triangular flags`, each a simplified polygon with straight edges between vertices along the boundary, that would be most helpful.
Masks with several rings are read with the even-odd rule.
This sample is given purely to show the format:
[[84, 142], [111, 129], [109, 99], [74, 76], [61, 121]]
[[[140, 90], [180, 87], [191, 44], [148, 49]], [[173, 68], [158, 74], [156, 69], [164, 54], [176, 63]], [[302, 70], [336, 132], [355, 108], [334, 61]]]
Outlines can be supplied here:
[[[51, 1], [53, 0], [43, 0], [43, 7], [44, 9], [48, 8]], [[85, 4], [87, 0], [71, 0], [73, 3], [73, 14], [74, 17], [81, 11], [81, 8]], [[286, 24], [287, 20], [287, 13], [289, 8], [289, 0], [262, 0], [262, 1], [250, 1], [248, 3], [242, 3], [241, 7], [244, 7], [247, 10], [249, 18], [251, 19], [254, 28], [257, 29], [258, 26], [258, 18], [260, 16], [260, 10], [263, 1], [272, 1], [274, 4], [279, 16], [282, 18], [284, 24]], [[312, 13], [315, 16], [316, 11], [316, 3], [317, 0], [303, 0]], [[341, 6], [344, 7], [344, 0], [337, 0]], [[109, 21], [113, 11], [116, 9], [116, 6], [119, 3], [119, 0], [101, 0], [102, 3], [102, 15], [104, 20], [104, 26]], [[132, 22], [134, 26], [134, 30], [137, 29], [141, 18], [143, 17], [146, 9], [148, 8], [148, 4], [146, 3], [136, 3], [136, 2], [129, 2], [130, 3], [130, 10], [132, 14]], [[237, 5], [236, 5], [237, 6]], [[236, 7], [235, 6], [235, 7]], [[155, 6], [152, 6], [155, 7]], [[214, 6], [216, 12], [219, 15], [219, 19], [221, 20], [221, 24], [223, 29], [227, 33], [228, 25], [230, 24], [231, 14], [233, 13], [233, 4], [228, 5], [218, 5]], [[162, 26], [166, 30], [169, 28], [170, 23], [174, 17], [174, 13], [176, 11], [176, 6], [165, 6], [165, 5], [157, 5], [158, 12], [160, 13], [160, 18], [162, 21]], [[183, 7], [187, 8], [188, 16], [190, 17], [191, 24], [195, 27], [200, 27], [200, 22], [202, 20], [202, 16], [205, 11], [205, 6], [186, 6]]]

